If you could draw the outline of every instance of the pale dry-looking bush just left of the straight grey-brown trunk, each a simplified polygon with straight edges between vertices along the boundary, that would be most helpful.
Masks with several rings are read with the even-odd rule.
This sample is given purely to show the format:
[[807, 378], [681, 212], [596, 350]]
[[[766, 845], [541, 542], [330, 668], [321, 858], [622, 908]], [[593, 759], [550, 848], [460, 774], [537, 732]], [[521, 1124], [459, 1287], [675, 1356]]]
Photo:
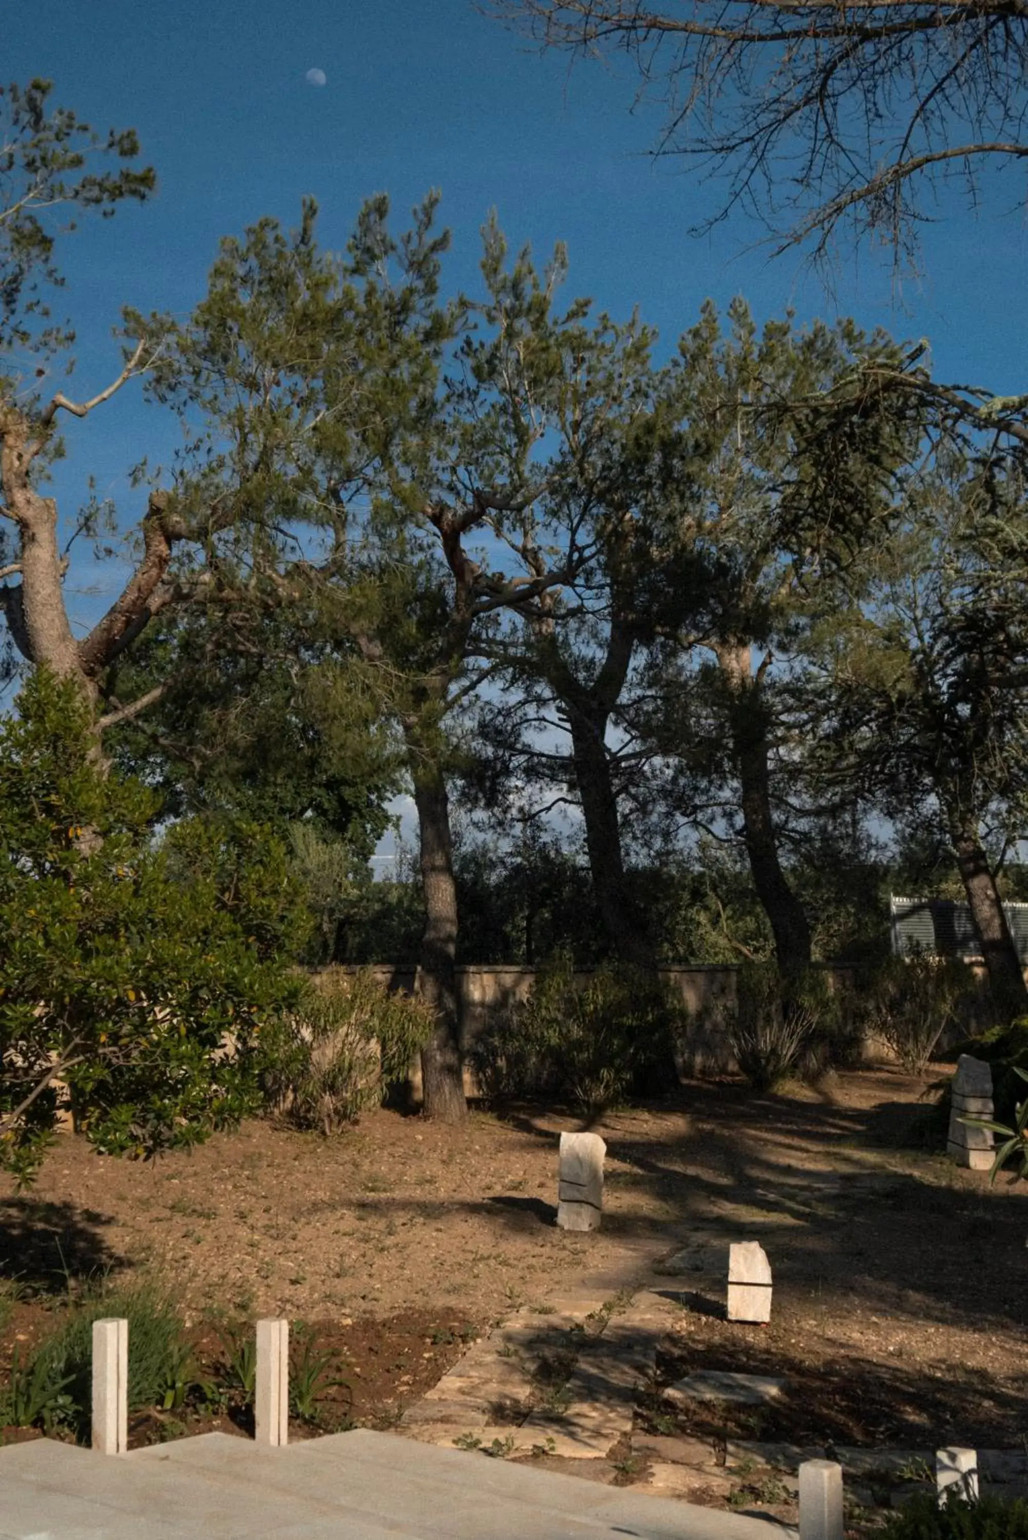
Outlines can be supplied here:
[[433, 1030], [424, 1001], [390, 993], [370, 972], [328, 969], [265, 1043], [268, 1104], [297, 1127], [333, 1133], [382, 1101]]

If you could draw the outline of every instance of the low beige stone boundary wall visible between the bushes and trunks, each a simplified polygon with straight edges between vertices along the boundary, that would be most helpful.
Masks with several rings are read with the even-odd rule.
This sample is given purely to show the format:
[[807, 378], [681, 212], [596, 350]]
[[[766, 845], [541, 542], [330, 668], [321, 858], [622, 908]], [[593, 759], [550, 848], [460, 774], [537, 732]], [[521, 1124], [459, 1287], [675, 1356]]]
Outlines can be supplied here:
[[[854, 987], [852, 969], [831, 967], [825, 964], [835, 989], [849, 995]], [[416, 969], [412, 964], [373, 962], [365, 970], [344, 967], [341, 972], [368, 972], [381, 979], [390, 990], [413, 992]], [[529, 966], [507, 966], [492, 962], [476, 962], [458, 967], [456, 989], [461, 1010], [461, 1046], [467, 1050], [478, 1033], [496, 1013], [507, 1012], [512, 1006], [527, 999], [538, 969]], [[721, 1010], [735, 1004], [735, 976], [732, 964], [724, 966], [681, 966], [663, 967], [660, 976], [678, 990], [689, 1012], [689, 1029], [678, 1044], [678, 1072], [683, 1078], [700, 1075], [723, 1075], [735, 1069], [735, 1060], [727, 1041], [727, 1033], [721, 1019]], [[578, 975], [586, 981], [590, 975], [583, 970]], [[863, 1044], [863, 1056], [868, 1061], [889, 1058], [889, 1050], [882, 1043], [868, 1041]], [[475, 1095], [470, 1073], [464, 1072], [465, 1090]], [[412, 1092], [415, 1098], [421, 1093], [421, 1069], [412, 1067]]]

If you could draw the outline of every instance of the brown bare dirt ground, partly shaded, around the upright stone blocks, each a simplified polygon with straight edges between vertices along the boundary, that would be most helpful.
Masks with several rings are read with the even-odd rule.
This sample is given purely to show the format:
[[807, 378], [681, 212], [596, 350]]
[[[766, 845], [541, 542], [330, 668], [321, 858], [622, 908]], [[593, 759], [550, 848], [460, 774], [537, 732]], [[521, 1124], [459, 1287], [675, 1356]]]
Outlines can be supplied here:
[[319, 1323], [351, 1384], [368, 1375], [354, 1418], [384, 1424], [469, 1334], [626, 1243], [657, 1255], [741, 1226], [772, 1260], [772, 1326], [729, 1329], [718, 1280], [669, 1277], [683, 1314], [653, 1389], [718, 1368], [786, 1375], [794, 1392], [674, 1431], [1020, 1448], [1028, 1184], [989, 1189], [919, 1146], [922, 1092], [872, 1070], [760, 1098], [694, 1084], [612, 1113], [595, 1126], [609, 1147], [596, 1235], [553, 1226], [572, 1116], [478, 1112], [447, 1129], [384, 1110], [331, 1141], [250, 1123], [153, 1166], [62, 1135], [31, 1194], [0, 1187], [0, 1277], [22, 1289], [0, 1375], [68, 1278], [108, 1270], [173, 1287], [197, 1326], [210, 1312]]

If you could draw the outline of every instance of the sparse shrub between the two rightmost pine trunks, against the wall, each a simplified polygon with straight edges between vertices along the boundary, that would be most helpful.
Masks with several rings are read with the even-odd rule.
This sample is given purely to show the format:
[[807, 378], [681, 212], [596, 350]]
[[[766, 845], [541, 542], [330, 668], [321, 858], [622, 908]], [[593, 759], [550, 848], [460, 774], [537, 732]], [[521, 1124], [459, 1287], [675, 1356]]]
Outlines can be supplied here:
[[959, 958], [920, 952], [889, 958], [862, 990], [865, 1029], [892, 1049], [903, 1069], [920, 1073], [974, 992], [974, 973]]

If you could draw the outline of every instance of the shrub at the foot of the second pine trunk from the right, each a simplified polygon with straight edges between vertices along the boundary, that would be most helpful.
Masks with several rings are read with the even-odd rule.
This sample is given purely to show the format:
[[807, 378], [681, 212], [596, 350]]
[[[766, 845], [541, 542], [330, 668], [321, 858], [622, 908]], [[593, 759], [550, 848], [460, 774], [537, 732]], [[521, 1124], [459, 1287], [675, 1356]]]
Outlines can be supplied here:
[[735, 990], [729, 1041], [755, 1090], [774, 1090], [797, 1069], [825, 1067], [838, 1006], [818, 970], [786, 986], [774, 962], [746, 962], [735, 975]]

